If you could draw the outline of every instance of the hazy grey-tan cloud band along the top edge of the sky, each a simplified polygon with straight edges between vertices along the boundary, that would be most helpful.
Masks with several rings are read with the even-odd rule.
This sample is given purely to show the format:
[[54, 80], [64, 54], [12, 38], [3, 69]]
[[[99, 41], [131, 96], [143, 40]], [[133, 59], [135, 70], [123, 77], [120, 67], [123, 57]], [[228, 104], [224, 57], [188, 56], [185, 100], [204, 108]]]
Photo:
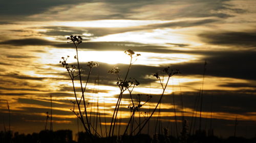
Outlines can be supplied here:
[[[176, 19], [182, 17], [228, 17], [226, 1], [19, 1], [2, 5], [2, 15], [26, 15], [34, 20]], [[18, 5], [17, 5], [18, 4]], [[215, 11], [215, 12], [212, 12]], [[236, 9], [238, 11], [238, 8]], [[234, 12], [236, 12], [234, 11]], [[79, 13], [79, 14], [78, 14]], [[43, 17], [43, 18], [42, 18]], [[22, 20], [22, 19], [21, 19]]]

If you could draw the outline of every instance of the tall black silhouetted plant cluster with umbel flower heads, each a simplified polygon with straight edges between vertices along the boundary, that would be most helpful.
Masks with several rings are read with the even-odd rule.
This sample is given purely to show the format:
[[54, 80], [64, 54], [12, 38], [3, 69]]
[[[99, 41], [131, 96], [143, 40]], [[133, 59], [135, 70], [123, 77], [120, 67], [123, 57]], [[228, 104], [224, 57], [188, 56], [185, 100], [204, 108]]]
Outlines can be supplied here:
[[[71, 40], [68, 43], [73, 43], [73, 45], [75, 46], [76, 55], [74, 55], [74, 59], [76, 59], [77, 65], [71, 65], [70, 66], [68, 64], [67, 60], [70, 58], [69, 55], [67, 56], [67, 58], [62, 57], [61, 61], [59, 61], [59, 63], [63, 67], [66, 68], [66, 70], [67, 70], [67, 72], [70, 76], [70, 79], [72, 81], [72, 84], [73, 84], [73, 91], [74, 91], [75, 101], [72, 101], [73, 109], [71, 109], [71, 111], [74, 112], [74, 114], [77, 116], [78, 119], [80, 119], [84, 129], [86, 130], [86, 132], [88, 133], [89, 136], [91, 136], [91, 137], [93, 136], [92, 130], [94, 130], [96, 135], [101, 137], [97, 133], [97, 130], [95, 130], [94, 126], [92, 126], [91, 122], [89, 121], [89, 115], [88, 115], [88, 111], [87, 111], [87, 107], [88, 107], [89, 103], [87, 103], [86, 100], [85, 100], [85, 91], [86, 91], [86, 88], [87, 88], [87, 84], [89, 82], [89, 77], [90, 77], [92, 68], [98, 67], [99, 64], [97, 62], [93, 62], [93, 61], [88, 62], [88, 64], [87, 64], [87, 66], [89, 67], [88, 76], [87, 76], [87, 79], [86, 79], [86, 83], [82, 83], [81, 73], [82, 73], [83, 69], [80, 67], [79, 59], [78, 59], [79, 58], [79, 56], [78, 56], [78, 45], [82, 43], [82, 38], [80, 36], [70, 36], [67, 39]], [[113, 112], [113, 116], [112, 116], [112, 119], [111, 119], [109, 133], [107, 135], [108, 137], [112, 137], [112, 138], [114, 137], [115, 126], [116, 126], [117, 120], [118, 120], [117, 115], [118, 115], [118, 111], [119, 111], [119, 108], [120, 108], [122, 95], [125, 91], [129, 92], [129, 95], [130, 95], [130, 98], [131, 98], [131, 104], [128, 106], [128, 108], [131, 111], [131, 117], [130, 117], [130, 120], [129, 120], [128, 124], [125, 127], [123, 135], [127, 134], [127, 129], [129, 127], [131, 128], [131, 132], [130, 132], [131, 135], [133, 133], [135, 133], [135, 131], [137, 131], [137, 130], [138, 130], [138, 132], [137, 132], [136, 135], [138, 135], [141, 132], [141, 130], [144, 128], [144, 126], [148, 123], [148, 121], [151, 119], [151, 117], [153, 116], [154, 112], [156, 111], [158, 105], [160, 104], [170, 77], [172, 77], [175, 74], [180, 73], [179, 70], [174, 71], [174, 70], [170, 69], [169, 67], [164, 68], [163, 72], [168, 75], [168, 79], [167, 79], [167, 82], [165, 84], [162, 83], [162, 81], [160, 79], [160, 76], [159, 76], [159, 73], [154, 74], [154, 76], [157, 79], [159, 79], [163, 92], [162, 92], [162, 95], [160, 96], [160, 99], [159, 99], [157, 105], [153, 109], [153, 111], [151, 113], [146, 111], [143, 114], [142, 112], [140, 112], [139, 109], [144, 104], [146, 104], [148, 101], [150, 101], [152, 96], [146, 95], [147, 99], [142, 103], [141, 97], [143, 95], [142, 94], [137, 94], [137, 96], [136, 96], [137, 97], [137, 100], [136, 100], [137, 102], [135, 102], [135, 99], [133, 99], [133, 96], [132, 96], [132, 92], [133, 92], [134, 88], [137, 87], [140, 83], [135, 78], [128, 78], [131, 66], [132, 66], [132, 64], [134, 64], [134, 62], [137, 61], [137, 58], [138, 58], [138, 56], [140, 56], [140, 54], [136, 54], [131, 49], [125, 50], [124, 53], [127, 54], [128, 56], [130, 56], [130, 63], [129, 63], [129, 66], [128, 66], [128, 69], [126, 71], [125, 76], [123, 78], [120, 77], [120, 75], [119, 75], [120, 69], [118, 67], [114, 67], [113, 69], [108, 71], [109, 73], [116, 75], [116, 80], [117, 80], [116, 84], [117, 84], [117, 86], [120, 90], [120, 94], [118, 96], [118, 100], [116, 102], [115, 109], [114, 109], [114, 112]], [[78, 95], [77, 90], [76, 90], [75, 85], [74, 85], [74, 81], [75, 81], [76, 78], [80, 81], [81, 96]], [[98, 106], [98, 103], [97, 103], [97, 106]], [[76, 110], [76, 108], [78, 108], [78, 111]], [[133, 128], [134, 127], [134, 122], [135, 122], [135, 112], [136, 111], [139, 113], [139, 123], [135, 128]], [[97, 110], [97, 113], [99, 113], [99, 110]], [[140, 118], [141, 114], [144, 117], [143, 121], [141, 121], [141, 118]], [[85, 120], [84, 120], [84, 118], [85, 118]], [[96, 124], [97, 124], [97, 119], [96, 119]], [[101, 132], [102, 132], [102, 130], [101, 130]], [[103, 135], [103, 133], [101, 133], [101, 135]]]

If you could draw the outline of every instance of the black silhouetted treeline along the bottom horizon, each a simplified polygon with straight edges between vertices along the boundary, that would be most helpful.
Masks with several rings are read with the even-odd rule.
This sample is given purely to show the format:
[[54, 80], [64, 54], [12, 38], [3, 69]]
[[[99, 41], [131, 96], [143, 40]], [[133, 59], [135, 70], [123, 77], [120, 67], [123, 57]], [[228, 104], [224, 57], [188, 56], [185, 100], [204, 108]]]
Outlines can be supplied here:
[[72, 137], [71, 130], [58, 130], [58, 131], [49, 131], [42, 130], [39, 133], [32, 134], [19, 134], [18, 132], [12, 133], [11, 131], [0, 132], [0, 142], [1, 143], [86, 143], [86, 142], [116, 142], [116, 143], [253, 143], [256, 142], [256, 137], [254, 138], [244, 138], [244, 137], [234, 137], [230, 136], [228, 138], [220, 138], [217, 136], [206, 135], [205, 131], [200, 133], [197, 131], [195, 135], [187, 136], [186, 139], [176, 138], [172, 135], [168, 135], [167, 132], [164, 134], [155, 134], [151, 137], [148, 134], [139, 134], [136, 136], [113, 136], [111, 138], [106, 137], [97, 137], [94, 136], [93, 140], [85, 132], [79, 132], [77, 135], [77, 141]]

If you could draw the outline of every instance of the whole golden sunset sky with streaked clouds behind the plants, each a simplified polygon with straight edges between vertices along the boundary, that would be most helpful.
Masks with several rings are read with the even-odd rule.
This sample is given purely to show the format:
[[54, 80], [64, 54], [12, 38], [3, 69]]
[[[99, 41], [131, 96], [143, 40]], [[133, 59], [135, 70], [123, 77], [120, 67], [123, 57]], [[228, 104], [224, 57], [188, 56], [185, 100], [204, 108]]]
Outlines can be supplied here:
[[[137, 94], [153, 96], [143, 111], [152, 109], [162, 92], [153, 75], [168, 66], [181, 71], [171, 78], [161, 103], [161, 120], [170, 134], [175, 132], [173, 97], [178, 121], [182, 95], [185, 119], [190, 123], [200, 89], [204, 129], [209, 129], [212, 112], [216, 135], [233, 135], [236, 118], [238, 136], [256, 134], [255, 1], [13, 0], [0, 5], [0, 17], [0, 130], [8, 127], [7, 101], [11, 130], [43, 130], [52, 95], [53, 129], [81, 131], [70, 111], [72, 82], [59, 64], [67, 55], [68, 63], [75, 64], [75, 48], [67, 43], [67, 37], [80, 35], [83, 81], [88, 75], [87, 62], [99, 63], [89, 79], [88, 108], [95, 111], [99, 99], [100, 113], [108, 122], [120, 92], [115, 75], [108, 70], [119, 67], [124, 76], [129, 56], [123, 51], [132, 49], [141, 54], [129, 73], [140, 82], [134, 98]], [[161, 78], [166, 81], [167, 76]], [[76, 80], [76, 87], [78, 83]], [[126, 93], [121, 108], [124, 125], [130, 115], [129, 104]]]

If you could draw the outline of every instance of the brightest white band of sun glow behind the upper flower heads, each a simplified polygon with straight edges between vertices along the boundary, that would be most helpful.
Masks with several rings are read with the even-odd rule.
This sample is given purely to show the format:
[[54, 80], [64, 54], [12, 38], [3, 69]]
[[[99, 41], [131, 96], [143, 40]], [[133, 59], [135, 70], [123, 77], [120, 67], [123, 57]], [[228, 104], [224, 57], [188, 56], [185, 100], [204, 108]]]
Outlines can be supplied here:
[[[71, 45], [72, 46], [72, 45]], [[60, 58], [65, 55], [70, 55], [68, 63], [76, 63], [73, 58], [75, 55], [75, 49], [55, 49], [48, 48], [49, 53], [41, 53], [42, 59], [38, 59], [38, 62], [48, 64], [58, 64]], [[136, 51], [135, 51], [136, 52]], [[201, 58], [201, 55], [186, 54], [186, 53], [152, 53], [152, 52], [136, 52], [141, 56], [134, 58], [134, 65], [146, 65], [146, 66], [160, 66], [164, 64], [176, 64], [181, 62], [196, 61]], [[50, 54], [55, 56], [49, 56]], [[92, 51], [92, 50], [79, 50], [79, 61], [89, 62], [95, 61], [106, 64], [129, 64], [130, 56], [125, 55], [123, 51]], [[135, 62], [136, 61], [136, 62]]]

